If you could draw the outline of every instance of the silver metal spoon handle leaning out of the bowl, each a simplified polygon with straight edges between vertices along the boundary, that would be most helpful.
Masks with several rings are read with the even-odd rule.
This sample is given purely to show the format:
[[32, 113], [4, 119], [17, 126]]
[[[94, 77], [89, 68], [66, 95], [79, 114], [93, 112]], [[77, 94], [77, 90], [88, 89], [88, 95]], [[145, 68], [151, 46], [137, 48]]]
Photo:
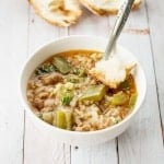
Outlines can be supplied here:
[[130, 10], [132, 8], [133, 1], [134, 0], [125, 0], [124, 3], [121, 4], [121, 7], [118, 11], [118, 14], [117, 14], [117, 19], [116, 19], [114, 28], [113, 28], [112, 34], [110, 34], [109, 42], [107, 44], [105, 54], [103, 56], [104, 60], [108, 59], [108, 57], [113, 50], [113, 47], [115, 46], [116, 40], [117, 40], [118, 36], [120, 35], [120, 33], [124, 28], [124, 26], [127, 22], [127, 19], [129, 16]]

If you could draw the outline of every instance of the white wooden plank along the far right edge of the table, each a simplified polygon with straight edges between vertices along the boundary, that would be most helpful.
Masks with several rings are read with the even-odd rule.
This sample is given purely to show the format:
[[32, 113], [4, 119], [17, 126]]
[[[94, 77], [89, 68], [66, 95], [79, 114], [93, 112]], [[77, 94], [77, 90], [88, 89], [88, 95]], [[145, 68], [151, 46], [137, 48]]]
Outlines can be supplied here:
[[163, 139], [164, 139], [164, 75], [163, 75], [163, 63], [164, 63], [164, 10], [163, 10], [163, 1], [151, 1], [147, 0], [148, 8], [148, 21], [151, 31], [151, 44], [154, 57], [154, 66], [156, 73], [156, 82], [157, 82], [157, 93], [160, 101], [160, 109], [162, 117], [162, 128], [163, 128]]

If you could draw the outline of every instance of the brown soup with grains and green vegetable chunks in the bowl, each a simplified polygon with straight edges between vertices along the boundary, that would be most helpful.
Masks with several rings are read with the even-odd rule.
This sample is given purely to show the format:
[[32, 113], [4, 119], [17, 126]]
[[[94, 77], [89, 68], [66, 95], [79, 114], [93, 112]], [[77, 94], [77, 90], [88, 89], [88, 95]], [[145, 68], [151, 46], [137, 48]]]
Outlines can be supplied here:
[[37, 117], [72, 131], [94, 131], [114, 126], [134, 107], [137, 89], [129, 73], [117, 89], [90, 74], [102, 52], [71, 50], [39, 65], [27, 83], [27, 101]]

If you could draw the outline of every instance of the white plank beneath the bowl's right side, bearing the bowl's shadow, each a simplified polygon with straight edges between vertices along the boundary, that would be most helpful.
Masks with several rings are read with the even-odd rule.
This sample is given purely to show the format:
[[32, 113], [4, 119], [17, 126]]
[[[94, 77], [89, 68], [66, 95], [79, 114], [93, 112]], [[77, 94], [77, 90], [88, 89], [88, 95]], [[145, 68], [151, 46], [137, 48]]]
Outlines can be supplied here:
[[[141, 23], [141, 26], [147, 25], [145, 28], [148, 30], [145, 8], [142, 11], [142, 14], [132, 15], [131, 19], [138, 20], [137, 22], [138, 24]], [[136, 28], [136, 25], [133, 28]], [[119, 163], [162, 164], [164, 149], [150, 36], [148, 33], [140, 35], [124, 34], [119, 42], [137, 55], [144, 68], [148, 80], [147, 97], [141, 110], [133, 125], [118, 138]]]

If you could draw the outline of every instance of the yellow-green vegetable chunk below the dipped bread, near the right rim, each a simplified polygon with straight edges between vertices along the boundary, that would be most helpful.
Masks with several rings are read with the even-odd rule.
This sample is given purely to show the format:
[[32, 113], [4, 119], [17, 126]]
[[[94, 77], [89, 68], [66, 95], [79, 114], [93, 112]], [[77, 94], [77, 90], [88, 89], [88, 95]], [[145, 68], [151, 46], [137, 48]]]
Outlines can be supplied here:
[[128, 102], [129, 96], [122, 91], [113, 95], [110, 104], [112, 105], [124, 105]]

